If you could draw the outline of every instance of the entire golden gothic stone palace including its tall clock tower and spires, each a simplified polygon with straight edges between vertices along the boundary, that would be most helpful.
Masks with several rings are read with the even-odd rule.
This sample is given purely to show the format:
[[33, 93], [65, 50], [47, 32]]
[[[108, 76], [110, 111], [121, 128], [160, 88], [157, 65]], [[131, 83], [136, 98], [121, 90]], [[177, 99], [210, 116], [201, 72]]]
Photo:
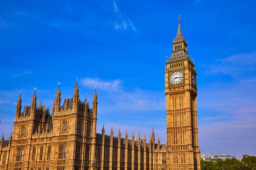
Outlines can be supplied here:
[[[200, 170], [196, 105], [196, 70], [189, 59], [179, 27], [173, 41], [172, 56], [165, 67], [167, 143], [155, 144], [154, 130], [145, 136], [128, 138], [96, 133], [97, 94], [92, 108], [80, 101], [76, 83], [71, 99], [61, 106], [60, 87], [52, 115], [49, 107], [37, 107], [36, 92], [30, 106], [21, 112], [17, 100], [13, 134], [0, 141], [0, 170]], [[193, 75], [192, 75], [193, 74]]]

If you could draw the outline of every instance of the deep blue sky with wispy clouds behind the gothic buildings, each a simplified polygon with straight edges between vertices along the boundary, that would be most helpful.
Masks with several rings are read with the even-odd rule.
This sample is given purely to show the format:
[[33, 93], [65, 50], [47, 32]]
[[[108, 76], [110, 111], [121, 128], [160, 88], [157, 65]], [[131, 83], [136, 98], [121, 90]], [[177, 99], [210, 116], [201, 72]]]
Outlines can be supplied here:
[[[172, 3], [171, 3], [172, 2]], [[177, 18], [195, 59], [199, 145], [216, 154], [256, 153], [256, 11], [253, 0], [20, 1], [0, 4], [0, 131], [8, 138], [22, 91], [23, 108], [37, 89], [52, 107], [93, 98], [97, 132], [119, 126], [166, 142], [164, 65]], [[23, 110], [22, 108], [22, 110]]]

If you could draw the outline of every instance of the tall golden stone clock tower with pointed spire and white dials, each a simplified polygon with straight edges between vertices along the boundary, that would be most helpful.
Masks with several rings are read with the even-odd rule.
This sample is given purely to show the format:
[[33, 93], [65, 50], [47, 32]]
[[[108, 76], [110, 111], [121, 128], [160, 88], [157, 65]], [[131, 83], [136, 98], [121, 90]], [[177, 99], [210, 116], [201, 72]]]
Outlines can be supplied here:
[[195, 65], [179, 26], [166, 62], [166, 126], [171, 170], [200, 170]]

